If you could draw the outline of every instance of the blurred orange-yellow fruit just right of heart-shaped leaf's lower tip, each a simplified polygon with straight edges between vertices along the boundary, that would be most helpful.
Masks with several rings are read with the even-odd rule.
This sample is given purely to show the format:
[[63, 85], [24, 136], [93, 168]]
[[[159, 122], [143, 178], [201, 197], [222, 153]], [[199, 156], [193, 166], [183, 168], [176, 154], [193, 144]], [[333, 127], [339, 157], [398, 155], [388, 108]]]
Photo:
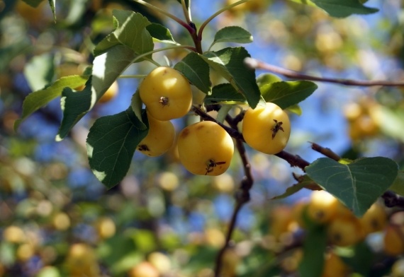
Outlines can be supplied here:
[[359, 219], [366, 234], [383, 230], [387, 224], [387, 214], [381, 204], [373, 204]]

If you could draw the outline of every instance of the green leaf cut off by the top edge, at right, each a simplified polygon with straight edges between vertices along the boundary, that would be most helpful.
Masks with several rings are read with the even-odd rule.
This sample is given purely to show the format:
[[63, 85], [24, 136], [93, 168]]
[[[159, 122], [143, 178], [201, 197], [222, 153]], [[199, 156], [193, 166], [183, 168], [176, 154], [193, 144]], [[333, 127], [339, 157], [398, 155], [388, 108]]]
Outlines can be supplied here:
[[369, 8], [359, 0], [311, 0], [316, 6], [322, 8], [330, 16], [344, 18], [352, 14], [376, 13], [378, 8]]

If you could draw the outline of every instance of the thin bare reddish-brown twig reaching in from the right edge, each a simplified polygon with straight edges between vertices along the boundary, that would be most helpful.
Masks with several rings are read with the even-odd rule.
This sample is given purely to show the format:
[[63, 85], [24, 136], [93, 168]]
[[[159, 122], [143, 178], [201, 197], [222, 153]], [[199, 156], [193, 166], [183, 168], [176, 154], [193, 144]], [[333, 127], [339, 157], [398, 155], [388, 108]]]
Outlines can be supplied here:
[[257, 59], [246, 58], [245, 64], [251, 69], [264, 69], [266, 71], [271, 71], [283, 75], [288, 78], [293, 78], [297, 80], [309, 80], [309, 81], [319, 81], [326, 83], [338, 83], [345, 86], [404, 86], [404, 82], [392, 82], [392, 81], [366, 81], [366, 80], [349, 80], [349, 79], [336, 79], [336, 78], [326, 78], [307, 75], [298, 71], [293, 71], [289, 69], [283, 69], [279, 66], [274, 66], [272, 64], [266, 64]]

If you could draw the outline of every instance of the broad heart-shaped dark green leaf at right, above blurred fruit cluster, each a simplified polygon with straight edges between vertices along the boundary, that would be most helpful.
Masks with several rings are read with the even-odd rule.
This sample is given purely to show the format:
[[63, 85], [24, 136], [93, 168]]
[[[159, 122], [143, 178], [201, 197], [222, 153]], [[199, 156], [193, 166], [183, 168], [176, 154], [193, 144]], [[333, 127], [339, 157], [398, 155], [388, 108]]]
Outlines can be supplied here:
[[398, 165], [383, 157], [362, 158], [348, 165], [319, 158], [305, 167], [305, 172], [360, 217], [391, 187]]

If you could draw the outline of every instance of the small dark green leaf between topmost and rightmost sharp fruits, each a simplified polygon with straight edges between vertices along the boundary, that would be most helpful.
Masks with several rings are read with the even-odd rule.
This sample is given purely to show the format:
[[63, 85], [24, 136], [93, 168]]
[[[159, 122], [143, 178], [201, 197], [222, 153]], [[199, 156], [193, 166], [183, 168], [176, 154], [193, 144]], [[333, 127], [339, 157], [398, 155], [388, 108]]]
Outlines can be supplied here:
[[221, 102], [246, 102], [245, 97], [238, 93], [230, 83], [220, 83], [212, 88], [212, 94], [207, 95], [205, 105], [220, 104]]

